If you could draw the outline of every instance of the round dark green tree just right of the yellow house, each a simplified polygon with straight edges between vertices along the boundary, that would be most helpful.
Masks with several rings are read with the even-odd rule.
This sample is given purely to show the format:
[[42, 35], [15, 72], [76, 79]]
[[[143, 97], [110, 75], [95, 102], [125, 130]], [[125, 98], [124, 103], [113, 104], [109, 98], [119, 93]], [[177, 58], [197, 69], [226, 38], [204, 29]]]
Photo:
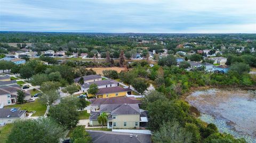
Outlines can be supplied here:
[[135, 88], [139, 94], [143, 94], [143, 92], [149, 87], [149, 83], [143, 78], [137, 78], [133, 80], [132, 87]]

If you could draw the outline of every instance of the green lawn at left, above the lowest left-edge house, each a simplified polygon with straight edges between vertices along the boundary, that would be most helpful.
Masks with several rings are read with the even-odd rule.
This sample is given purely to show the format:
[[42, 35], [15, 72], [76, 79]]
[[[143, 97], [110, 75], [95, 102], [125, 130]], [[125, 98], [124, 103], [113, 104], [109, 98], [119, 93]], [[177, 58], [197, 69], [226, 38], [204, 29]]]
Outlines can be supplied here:
[[4, 106], [4, 108], [12, 107], [20, 107], [20, 110], [36, 111], [32, 116], [43, 116], [46, 111], [46, 106], [39, 103], [38, 99], [36, 99], [35, 102]]

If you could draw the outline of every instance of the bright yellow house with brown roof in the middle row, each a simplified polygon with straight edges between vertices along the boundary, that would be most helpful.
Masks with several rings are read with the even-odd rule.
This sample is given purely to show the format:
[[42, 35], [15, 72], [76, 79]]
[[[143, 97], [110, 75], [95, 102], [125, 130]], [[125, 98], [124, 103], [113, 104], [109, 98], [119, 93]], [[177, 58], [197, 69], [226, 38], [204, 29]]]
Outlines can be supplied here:
[[[132, 89], [122, 87], [106, 87], [100, 88], [96, 94], [97, 98], [110, 98], [131, 95]], [[93, 97], [92, 94], [88, 94], [88, 97]]]

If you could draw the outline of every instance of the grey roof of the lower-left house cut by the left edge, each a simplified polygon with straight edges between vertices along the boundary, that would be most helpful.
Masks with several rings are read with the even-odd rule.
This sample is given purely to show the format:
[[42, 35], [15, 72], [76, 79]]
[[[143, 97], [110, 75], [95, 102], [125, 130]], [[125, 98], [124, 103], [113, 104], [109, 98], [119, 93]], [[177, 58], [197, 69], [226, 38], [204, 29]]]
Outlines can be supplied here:
[[20, 117], [26, 110], [19, 110], [19, 108], [0, 108], [0, 118]]

